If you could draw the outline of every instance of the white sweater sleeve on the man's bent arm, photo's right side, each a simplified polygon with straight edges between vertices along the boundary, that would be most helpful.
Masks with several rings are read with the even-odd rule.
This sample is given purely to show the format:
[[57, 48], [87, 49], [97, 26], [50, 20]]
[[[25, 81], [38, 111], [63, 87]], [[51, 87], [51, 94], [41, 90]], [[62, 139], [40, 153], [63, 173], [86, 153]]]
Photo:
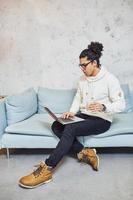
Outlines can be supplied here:
[[106, 112], [122, 112], [125, 109], [125, 98], [118, 79], [112, 76], [111, 79], [109, 79], [108, 85], [110, 103], [105, 104]]

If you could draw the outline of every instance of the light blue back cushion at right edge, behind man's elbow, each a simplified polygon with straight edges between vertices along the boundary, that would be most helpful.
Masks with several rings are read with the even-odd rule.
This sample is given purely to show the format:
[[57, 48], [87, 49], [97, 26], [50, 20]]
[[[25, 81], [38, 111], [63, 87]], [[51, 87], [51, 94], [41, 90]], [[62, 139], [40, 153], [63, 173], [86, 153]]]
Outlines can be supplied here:
[[124, 97], [125, 97], [125, 102], [126, 102], [126, 107], [123, 112], [132, 112], [132, 99], [131, 99], [131, 94], [130, 94], [130, 89], [128, 84], [122, 84], [121, 85], [122, 90], [124, 92]]

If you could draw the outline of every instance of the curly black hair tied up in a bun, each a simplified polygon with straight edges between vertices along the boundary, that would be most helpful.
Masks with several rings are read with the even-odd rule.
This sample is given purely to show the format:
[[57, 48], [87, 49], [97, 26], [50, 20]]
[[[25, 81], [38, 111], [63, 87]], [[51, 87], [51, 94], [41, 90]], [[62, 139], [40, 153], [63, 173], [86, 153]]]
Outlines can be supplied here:
[[102, 56], [102, 51], [103, 51], [103, 45], [99, 42], [91, 42], [88, 45], [87, 49], [84, 49], [81, 53], [79, 58], [84, 58], [87, 57], [88, 60], [90, 61], [97, 61], [98, 67], [101, 65], [100, 64], [100, 57]]

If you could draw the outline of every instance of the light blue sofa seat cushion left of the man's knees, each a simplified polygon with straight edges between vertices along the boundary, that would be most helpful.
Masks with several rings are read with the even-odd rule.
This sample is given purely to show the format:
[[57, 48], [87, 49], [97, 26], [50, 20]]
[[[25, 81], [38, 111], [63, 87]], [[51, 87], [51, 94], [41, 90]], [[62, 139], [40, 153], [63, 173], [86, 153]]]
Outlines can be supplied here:
[[[58, 116], [58, 115], [57, 115]], [[53, 136], [53, 119], [48, 114], [34, 114], [30, 118], [7, 126], [7, 133]]]

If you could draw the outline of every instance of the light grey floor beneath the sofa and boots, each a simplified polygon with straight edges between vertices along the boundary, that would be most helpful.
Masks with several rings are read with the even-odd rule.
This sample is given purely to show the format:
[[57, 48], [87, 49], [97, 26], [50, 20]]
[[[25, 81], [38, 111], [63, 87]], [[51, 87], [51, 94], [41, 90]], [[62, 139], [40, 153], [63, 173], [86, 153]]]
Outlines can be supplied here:
[[133, 200], [133, 151], [99, 152], [98, 172], [66, 156], [52, 182], [23, 189], [19, 178], [50, 153], [38, 151], [16, 150], [9, 160], [0, 155], [0, 200]]

